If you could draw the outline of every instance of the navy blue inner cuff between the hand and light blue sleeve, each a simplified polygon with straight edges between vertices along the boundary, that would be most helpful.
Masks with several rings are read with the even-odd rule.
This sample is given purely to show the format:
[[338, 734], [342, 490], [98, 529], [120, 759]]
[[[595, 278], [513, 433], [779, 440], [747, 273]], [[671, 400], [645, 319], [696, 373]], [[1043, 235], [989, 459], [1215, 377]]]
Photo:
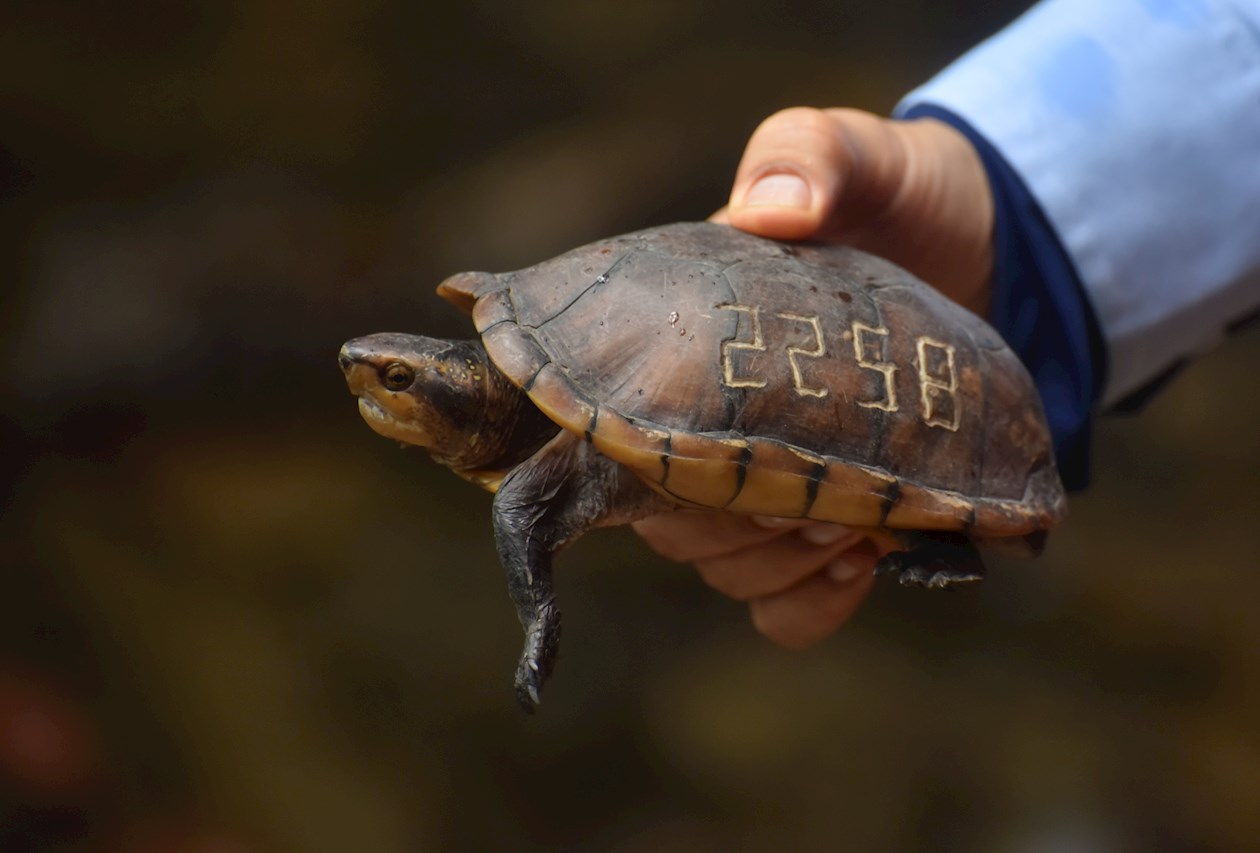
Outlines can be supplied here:
[[1084, 489], [1090, 483], [1092, 415], [1106, 377], [1106, 346], [1076, 267], [1023, 180], [974, 127], [927, 105], [911, 107], [903, 118], [942, 121], [980, 155], [994, 207], [988, 319], [1037, 383], [1063, 484]]

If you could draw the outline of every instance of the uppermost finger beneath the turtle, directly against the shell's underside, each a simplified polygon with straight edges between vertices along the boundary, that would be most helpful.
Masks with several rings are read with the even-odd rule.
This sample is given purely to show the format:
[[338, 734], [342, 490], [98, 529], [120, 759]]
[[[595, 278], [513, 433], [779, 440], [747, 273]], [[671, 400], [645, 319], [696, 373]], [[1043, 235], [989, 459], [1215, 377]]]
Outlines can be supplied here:
[[785, 523], [769, 527], [750, 515], [680, 509], [635, 522], [634, 529], [660, 556], [689, 563], [769, 542], [795, 527], [811, 524], [776, 519], [780, 520]]

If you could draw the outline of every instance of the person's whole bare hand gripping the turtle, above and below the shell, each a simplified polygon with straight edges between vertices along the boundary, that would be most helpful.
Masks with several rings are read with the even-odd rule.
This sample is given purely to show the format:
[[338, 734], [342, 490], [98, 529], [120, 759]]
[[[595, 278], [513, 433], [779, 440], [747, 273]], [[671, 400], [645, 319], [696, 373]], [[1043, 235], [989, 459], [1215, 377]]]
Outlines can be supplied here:
[[[730, 204], [713, 218], [764, 237], [856, 246], [987, 311], [993, 197], [975, 150], [945, 123], [856, 110], [775, 113], [748, 140]], [[634, 527], [663, 556], [747, 601], [756, 629], [794, 649], [848, 620], [891, 549], [835, 524], [731, 513], [680, 510]]]

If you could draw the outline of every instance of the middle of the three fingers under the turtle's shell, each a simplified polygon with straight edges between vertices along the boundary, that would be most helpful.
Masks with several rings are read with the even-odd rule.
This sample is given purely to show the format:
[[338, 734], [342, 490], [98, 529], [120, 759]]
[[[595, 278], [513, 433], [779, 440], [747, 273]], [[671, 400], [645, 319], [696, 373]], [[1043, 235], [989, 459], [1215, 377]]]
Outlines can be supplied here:
[[[782, 592], [818, 573], [862, 541], [862, 533], [843, 527], [808, 528], [834, 534], [829, 542], [805, 538], [806, 530], [711, 559], [696, 561], [696, 570], [711, 587], [740, 601]], [[818, 537], [813, 537], [816, 539]]]

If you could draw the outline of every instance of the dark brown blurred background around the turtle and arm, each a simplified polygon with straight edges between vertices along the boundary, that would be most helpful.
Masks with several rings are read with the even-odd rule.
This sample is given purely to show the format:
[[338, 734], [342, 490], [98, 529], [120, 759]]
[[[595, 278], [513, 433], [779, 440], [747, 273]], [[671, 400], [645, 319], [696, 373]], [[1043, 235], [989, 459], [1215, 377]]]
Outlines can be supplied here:
[[489, 495], [335, 364], [1027, 5], [5, 0], [0, 850], [1254, 844], [1255, 330], [1100, 425], [1042, 561], [806, 653], [592, 534], [534, 718]]

